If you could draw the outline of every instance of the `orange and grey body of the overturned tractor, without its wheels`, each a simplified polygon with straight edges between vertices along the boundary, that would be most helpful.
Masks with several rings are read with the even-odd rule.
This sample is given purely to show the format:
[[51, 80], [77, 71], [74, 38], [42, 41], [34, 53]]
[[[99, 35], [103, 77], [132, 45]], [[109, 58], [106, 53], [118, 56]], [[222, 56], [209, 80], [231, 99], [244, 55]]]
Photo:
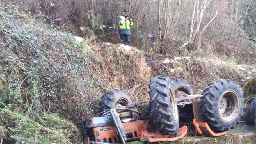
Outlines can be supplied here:
[[[226, 134], [228, 131], [219, 134], [214, 133], [205, 122], [199, 106], [202, 96], [176, 93], [176, 102], [179, 109], [184, 110], [185, 106], [192, 106], [193, 108], [193, 120], [190, 120], [193, 124], [191, 129], [197, 134], [209, 136]], [[110, 109], [109, 112], [103, 114], [104, 116], [99, 114], [98, 116], [100, 117], [88, 118], [84, 121], [83, 127], [85, 129], [92, 129], [94, 137], [91, 140], [101, 143], [118, 143], [119, 140], [125, 143], [135, 139], [145, 142], [176, 141], [186, 136], [188, 127], [185, 125], [179, 128], [176, 137], [152, 131], [149, 113], [150, 105], [148, 101], [134, 102], [128, 106]], [[191, 111], [187, 113], [191, 113]], [[84, 143], [90, 143], [89, 138], [85, 138]]]

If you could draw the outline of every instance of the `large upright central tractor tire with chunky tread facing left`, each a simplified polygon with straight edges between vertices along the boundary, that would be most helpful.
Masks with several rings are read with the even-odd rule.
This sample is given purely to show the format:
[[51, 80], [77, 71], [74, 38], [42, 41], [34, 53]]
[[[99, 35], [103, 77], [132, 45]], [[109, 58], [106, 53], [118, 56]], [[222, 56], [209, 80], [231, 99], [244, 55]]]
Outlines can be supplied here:
[[153, 123], [160, 134], [177, 135], [179, 112], [173, 84], [167, 75], [154, 77], [149, 84], [150, 108]]

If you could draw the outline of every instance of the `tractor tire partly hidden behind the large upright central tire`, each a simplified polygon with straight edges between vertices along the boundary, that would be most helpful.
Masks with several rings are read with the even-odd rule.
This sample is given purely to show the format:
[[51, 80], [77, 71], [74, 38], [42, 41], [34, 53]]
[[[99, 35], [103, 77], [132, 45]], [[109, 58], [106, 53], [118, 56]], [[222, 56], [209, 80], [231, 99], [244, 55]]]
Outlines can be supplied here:
[[173, 90], [176, 95], [176, 97], [179, 97], [179, 95], [193, 95], [194, 90], [193, 86], [189, 83], [189, 81], [186, 81], [184, 79], [171, 79], [173, 82]]

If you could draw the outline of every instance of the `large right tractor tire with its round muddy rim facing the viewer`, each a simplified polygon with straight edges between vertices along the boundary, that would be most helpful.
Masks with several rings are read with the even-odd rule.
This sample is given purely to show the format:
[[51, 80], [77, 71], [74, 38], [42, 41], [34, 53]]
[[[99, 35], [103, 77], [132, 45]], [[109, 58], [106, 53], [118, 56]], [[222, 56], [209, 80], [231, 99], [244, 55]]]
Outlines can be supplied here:
[[209, 127], [215, 132], [234, 128], [243, 112], [243, 92], [234, 81], [220, 79], [208, 84], [200, 106]]

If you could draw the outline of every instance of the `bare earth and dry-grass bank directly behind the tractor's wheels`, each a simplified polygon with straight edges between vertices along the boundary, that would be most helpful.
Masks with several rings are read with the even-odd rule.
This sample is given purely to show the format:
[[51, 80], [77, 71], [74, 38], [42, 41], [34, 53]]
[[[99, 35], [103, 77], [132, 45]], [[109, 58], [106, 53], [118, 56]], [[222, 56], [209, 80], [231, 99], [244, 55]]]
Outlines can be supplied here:
[[99, 77], [108, 81], [103, 87], [127, 90], [134, 100], [148, 99], [147, 84], [150, 78], [158, 75], [167, 74], [170, 78], [186, 79], [194, 86], [196, 93], [216, 79], [230, 79], [243, 85], [256, 72], [253, 66], [196, 56], [164, 56], [149, 54], [136, 48], [125, 51], [123, 46], [105, 43], [88, 42], [88, 46], [99, 59], [98, 67], [100, 65], [101, 70], [96, 70], [98, 67], [95, 67], [95, 71], [101, 71]]

